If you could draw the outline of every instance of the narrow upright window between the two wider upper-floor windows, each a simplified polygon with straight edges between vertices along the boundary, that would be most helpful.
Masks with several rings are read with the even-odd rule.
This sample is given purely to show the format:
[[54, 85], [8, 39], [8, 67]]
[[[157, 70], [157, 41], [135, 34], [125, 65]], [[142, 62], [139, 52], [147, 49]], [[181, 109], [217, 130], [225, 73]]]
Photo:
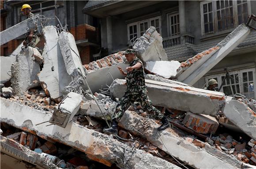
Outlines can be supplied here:
[[169, 36], [180, 34], [180, 19], [179, 14], [168, 15], [169, 21]]

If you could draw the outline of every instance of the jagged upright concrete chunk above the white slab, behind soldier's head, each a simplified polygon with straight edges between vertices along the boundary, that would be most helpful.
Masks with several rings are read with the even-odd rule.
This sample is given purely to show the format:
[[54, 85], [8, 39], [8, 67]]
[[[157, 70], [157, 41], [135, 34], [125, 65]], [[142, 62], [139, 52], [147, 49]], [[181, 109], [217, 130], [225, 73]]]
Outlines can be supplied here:
[[162, 45], [162, 37], [154, 26], [150, 26], [146, 32], [136, 40], [132, 49], [137, 51], [139, 58], [147, 61], [167, 61], [167, 55]]

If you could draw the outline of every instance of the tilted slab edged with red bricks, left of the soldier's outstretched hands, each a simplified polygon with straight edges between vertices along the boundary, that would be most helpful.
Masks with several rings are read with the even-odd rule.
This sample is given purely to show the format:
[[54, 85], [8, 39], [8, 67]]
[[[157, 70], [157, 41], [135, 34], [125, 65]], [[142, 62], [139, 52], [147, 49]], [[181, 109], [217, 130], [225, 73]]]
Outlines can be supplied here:
[[119, 66], [125, 70], [128, 66], [128, 64], [125, 64], [126, 59], [123, 53], [124, 51], [114, 53], [85, 65], [88, 70], [87, 83], [93, 93], [99, 92], [99, 89], [108, 88], [114, 79], [124, 78], [117, 68]]

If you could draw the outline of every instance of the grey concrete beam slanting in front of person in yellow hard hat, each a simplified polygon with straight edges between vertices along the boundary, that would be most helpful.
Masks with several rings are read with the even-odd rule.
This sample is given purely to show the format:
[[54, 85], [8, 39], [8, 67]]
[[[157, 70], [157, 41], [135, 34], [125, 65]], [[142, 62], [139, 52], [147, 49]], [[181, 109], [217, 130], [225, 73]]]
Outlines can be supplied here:
[[35, 27], [35, 24], [40, 25], [39, 15], [34, 15], [21, 23], [18, 23], [10, 28], [0, 32], [1, 44], [4, 45], [8, 41], [11, 41], [19, 36], [26, 34], [30, 29]]

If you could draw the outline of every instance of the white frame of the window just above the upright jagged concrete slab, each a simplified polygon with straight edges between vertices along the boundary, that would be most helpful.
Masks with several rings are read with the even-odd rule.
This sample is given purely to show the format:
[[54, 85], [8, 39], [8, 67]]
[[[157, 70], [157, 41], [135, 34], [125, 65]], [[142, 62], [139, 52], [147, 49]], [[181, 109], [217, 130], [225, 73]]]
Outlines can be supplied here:
[[130, 42], [130, 26], [134, 26], [136, 25], [137, 26], [137, 36], [136, 38], [139, 38], [141, 37], [140, 36], [140, 23], [145, 23], [147, 22], [148, 23], [148, 26], [150, 27], [151, 26], [151, 21], [152, 20], [156, 20], [156, 19], [159, 19], [159, 34], [162, 34], [162, 29], [161, 29], [161, 15], [160, 16], [156, 16], [156, 17], [153, 17], [153, 18], [148, 18], [148, 19], [143, 19], [143, 20], [140, 20], [140, 21], [137, 21], [137, 22], [134, 22], [134, 23], [129, 23], [127, 24], [127, 39], [128, 39], [128, 43]]

